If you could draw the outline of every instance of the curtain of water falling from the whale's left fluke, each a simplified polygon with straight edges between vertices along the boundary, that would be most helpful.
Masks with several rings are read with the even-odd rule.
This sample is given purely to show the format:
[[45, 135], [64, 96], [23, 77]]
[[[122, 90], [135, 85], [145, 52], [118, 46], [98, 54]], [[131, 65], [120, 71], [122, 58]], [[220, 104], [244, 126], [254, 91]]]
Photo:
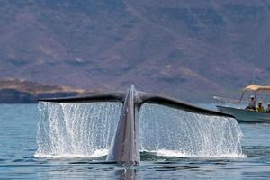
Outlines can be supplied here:
[[121, 103], [39, 103], [36, 157], [105, 156]]

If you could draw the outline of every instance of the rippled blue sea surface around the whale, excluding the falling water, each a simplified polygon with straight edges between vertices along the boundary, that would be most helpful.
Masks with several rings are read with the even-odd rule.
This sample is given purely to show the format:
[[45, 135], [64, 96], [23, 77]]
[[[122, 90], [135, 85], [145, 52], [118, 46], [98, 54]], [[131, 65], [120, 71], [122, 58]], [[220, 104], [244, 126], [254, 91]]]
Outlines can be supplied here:
[[129, 169], [95, 159], [34, 157], [37, 104], [0, 104], [0, 179], [270, 179], [270, 124], [240, 124], [247, 157], [141, 154]]

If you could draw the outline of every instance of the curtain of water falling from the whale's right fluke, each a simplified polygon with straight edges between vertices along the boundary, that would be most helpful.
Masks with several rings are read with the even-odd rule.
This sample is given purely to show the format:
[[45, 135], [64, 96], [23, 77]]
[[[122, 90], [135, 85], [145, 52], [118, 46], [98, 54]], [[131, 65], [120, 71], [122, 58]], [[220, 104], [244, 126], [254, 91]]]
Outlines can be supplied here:
[[232, 118], [200, 115], [158, 104], [139, 113], [141, 150], [174, 157], [244, 157], [242, 132]]

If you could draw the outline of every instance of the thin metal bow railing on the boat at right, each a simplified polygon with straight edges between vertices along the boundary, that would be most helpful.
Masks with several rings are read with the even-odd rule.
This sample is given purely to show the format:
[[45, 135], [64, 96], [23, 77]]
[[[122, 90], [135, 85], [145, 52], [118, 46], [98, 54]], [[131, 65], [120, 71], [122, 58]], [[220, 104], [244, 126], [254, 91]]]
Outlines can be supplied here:
[[235, 108], [243, 108], [247, 105], [246, 101], [238, 101], [235, 99], [229, 99], [219, 96], [213, 96], [213, 99], [216, 100], [216, 103], [226, 107], [235, 107]]

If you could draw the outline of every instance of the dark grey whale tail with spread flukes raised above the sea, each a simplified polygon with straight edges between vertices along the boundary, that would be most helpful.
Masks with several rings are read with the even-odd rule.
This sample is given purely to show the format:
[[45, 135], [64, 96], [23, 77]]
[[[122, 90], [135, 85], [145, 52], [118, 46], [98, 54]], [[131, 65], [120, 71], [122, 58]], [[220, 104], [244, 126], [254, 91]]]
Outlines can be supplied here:
[[94, 102], [121, 102], [120, 121], [112, 140], [112, 145], [107, 160], [125, 164], [138, 164], [139, 157], [139, 108], [143, 103], [157, 103], [204, 115], [232, 117], [226, 113], [211, 111], [190, 103], [177, 101], [173, 98], [158, 94], [148, 94], [136, 91], [134, 85], [124, 93], [89, 94], [80, 97], [40, 99], [42, 102], [51, 103], [94, 103]]

